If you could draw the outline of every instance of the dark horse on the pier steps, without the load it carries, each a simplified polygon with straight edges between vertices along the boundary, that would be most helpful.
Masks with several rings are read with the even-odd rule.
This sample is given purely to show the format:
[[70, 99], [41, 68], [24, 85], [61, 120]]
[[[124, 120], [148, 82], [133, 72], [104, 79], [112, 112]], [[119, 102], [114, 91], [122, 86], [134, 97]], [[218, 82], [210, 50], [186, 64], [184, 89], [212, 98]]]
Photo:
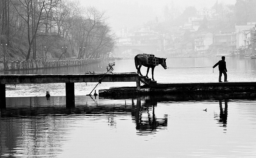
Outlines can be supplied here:
[[[158, 59], [158, 64], [160, 64], [161, 66], [163, 66], [164, 69], [167, 69], [166, 66], [166, 58], [157, 58], [155, 57], [155, 59]], [[147, 69], [147, 74], [146, 74], [146, 78], [148, 77], [148, 73], [149, 73], [149, 68], [151, 68], [152, 70], [152, 80], [154, 80], [154, 69], [157, 65], [153, 65], [153, 64], [148, 64], [148, 56], [147, 54], [138, 54], [134, 57], [134, 62], [135, 62], [135, 67], [137, 69], [137, 73], [139, 73], [141, 76], [143, 76], [141, 74], [141, 66], [145, 66], [148, 67]]]

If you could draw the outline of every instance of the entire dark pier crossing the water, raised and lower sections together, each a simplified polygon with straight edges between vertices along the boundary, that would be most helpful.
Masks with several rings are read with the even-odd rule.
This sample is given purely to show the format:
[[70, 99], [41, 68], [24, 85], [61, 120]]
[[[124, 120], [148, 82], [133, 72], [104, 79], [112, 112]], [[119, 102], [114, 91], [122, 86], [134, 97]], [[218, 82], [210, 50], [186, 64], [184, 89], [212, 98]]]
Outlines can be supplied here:
[[[66, 106], [75, 106], [75, 82], [136, 82], [136, 87], [99, 90], [99, 97], [156, 94], [256, 93], [256, 82], [157, 83], [138, 73], [0, 75], [0, 108], [6, 107], [6, 84], [66, 83]], [[141, 82], [145, 85], [141, 86]]]

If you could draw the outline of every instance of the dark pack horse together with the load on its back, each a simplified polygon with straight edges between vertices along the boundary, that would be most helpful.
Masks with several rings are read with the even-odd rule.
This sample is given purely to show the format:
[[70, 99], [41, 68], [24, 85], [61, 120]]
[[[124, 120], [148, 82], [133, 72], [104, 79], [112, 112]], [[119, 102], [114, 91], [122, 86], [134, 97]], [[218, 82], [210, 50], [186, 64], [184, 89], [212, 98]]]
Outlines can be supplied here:
[[137, 69], [137, 72], [142, 76], [141, 74], [141, 66], [145, 66], [148, 67], [147, 69], [147, 74], [146, 74], [146, 78], [148, 77], [148, 73], [149, 73], [149, 68], [151, 68], [152, 70], [152, 80], [154, 80], [154, 69], [157, 65], [161, 65], [163, 66], [164, 69], [167, 69], [166, 66], [166, 58], [158, 58], [155, 57], [155, 55], [153, 54], [138, 54], [134, 57], [134, 62], [135, 62], [135, 67]]

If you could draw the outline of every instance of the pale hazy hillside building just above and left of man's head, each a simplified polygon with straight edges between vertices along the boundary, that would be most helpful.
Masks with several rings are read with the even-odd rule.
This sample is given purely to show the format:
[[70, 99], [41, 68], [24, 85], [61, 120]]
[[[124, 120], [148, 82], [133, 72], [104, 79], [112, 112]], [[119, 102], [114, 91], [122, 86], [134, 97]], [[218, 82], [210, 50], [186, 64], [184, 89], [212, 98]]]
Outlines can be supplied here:
[[195, 51], [198, 55], [205, 54], [213, 43], [213, 33], [199, 33], [195, 36]]

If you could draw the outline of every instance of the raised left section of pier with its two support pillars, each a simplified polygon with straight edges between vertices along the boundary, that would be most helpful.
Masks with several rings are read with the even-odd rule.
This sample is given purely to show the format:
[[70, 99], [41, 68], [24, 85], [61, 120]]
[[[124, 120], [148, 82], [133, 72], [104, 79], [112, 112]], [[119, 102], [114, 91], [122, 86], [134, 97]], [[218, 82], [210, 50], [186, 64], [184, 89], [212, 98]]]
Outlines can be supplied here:
[[6, 107], [6, 84], [66, 83], [66, 106], [75, 106], [75, 82], [136, 82], [140, 85], [138, 73], [97, 74], [47, 74], [47, 75], [0, 75], [0, 108]]

